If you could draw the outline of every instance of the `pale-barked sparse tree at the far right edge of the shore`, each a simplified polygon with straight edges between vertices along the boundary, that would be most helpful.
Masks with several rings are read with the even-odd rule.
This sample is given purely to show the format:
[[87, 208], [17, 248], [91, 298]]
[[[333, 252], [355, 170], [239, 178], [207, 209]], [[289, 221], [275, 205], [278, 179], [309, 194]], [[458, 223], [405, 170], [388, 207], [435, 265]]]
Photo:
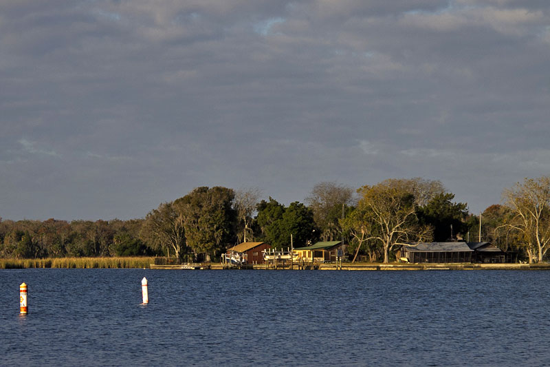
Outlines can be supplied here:
[[501, 227], [519, 234], [529, 263], [542, 262], [550, 248], [550, 177], [525, 178], [505, 189], [503, 200], [514, 216]]

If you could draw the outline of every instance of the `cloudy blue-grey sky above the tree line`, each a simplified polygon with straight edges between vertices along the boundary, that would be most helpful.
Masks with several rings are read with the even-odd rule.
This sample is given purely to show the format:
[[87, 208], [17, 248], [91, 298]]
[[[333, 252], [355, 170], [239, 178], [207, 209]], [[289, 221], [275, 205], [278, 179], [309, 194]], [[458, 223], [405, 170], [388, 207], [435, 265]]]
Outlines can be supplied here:
[[0, 217], [550, 174], [547, 0], [3, 0]]

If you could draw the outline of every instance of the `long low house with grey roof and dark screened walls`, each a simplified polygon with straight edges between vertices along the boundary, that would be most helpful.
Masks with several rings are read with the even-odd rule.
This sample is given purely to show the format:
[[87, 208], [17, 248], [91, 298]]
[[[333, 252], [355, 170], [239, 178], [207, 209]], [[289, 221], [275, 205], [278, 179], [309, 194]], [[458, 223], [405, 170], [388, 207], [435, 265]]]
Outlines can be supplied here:
[[401, 247], [398, 258], [409, 262], [472, 262], [474, 250], [466, 242], [419, 242]]

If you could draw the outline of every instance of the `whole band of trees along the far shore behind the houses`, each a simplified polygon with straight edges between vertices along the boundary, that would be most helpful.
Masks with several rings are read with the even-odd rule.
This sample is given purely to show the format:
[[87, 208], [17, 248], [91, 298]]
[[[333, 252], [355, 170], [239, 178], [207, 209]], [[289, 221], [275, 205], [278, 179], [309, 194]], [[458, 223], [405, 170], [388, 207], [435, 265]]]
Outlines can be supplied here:
[[[262, 199], [257, 188], [197, 187], [133, 220], [1, 220], [1, 258], [164, 255], [219, 261], [239, 242], [274, 248], [344, 240], [351, 261], [395, 260], [412, 242], [492, 242], [540, 262], [550, 247], [550, 178], [526, 178], [480, 216], [439, 180], [389, 179], [354, 190], [320, 182], [305, 202]], [[480, 227], [481, 221], [481, 227]], [[481, 229], [481, 230], [480, 230]]]

